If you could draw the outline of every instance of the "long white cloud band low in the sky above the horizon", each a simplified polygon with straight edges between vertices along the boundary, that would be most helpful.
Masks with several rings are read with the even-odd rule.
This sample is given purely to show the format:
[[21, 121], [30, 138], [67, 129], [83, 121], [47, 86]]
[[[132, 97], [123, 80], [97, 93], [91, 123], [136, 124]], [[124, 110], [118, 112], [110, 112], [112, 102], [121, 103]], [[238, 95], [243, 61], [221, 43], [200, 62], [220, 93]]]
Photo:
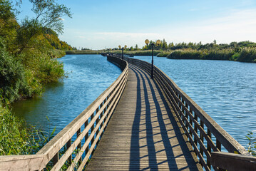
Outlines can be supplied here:
[[[72, 35], [72, 36], [71, 36]], [[119, 45], [145, 45], [145, 39], [165, 38], [168, 42], [230, 43], [231, 41], [256, 41], [256, 9], [230, 10], [222, 16], [202, 21], [180, 21], [173, 25], [145, 28], [145, 33], [96, 32], [77, 29], [66, 30], [63, 36], [72, 46], [93, 49], [114, 48]]]

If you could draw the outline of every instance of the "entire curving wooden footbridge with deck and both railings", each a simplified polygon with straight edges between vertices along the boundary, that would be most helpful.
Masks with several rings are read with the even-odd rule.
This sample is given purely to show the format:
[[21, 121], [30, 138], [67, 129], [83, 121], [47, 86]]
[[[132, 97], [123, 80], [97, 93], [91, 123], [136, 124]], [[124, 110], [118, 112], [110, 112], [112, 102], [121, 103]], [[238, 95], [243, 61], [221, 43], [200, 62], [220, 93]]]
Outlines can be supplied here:
[[[256, 159], [150, 63], [108, 55], [121, 75], [35, 155], [0, 170], [256, 170]], [[222, 152], [221, 152], [222, 151]]]

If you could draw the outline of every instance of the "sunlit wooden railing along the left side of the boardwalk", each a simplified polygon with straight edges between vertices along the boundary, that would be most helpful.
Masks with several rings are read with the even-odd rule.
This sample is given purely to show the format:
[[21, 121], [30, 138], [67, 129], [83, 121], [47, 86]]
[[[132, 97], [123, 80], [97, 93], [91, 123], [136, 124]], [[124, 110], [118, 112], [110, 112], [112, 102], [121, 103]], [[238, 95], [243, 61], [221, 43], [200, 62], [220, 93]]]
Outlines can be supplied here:
[[91, 105], [36, 155], [0, 156], [0, 170], [83, 170], [116, 108], [128, 79], [128, 64], [108, 56], [123, 72]]

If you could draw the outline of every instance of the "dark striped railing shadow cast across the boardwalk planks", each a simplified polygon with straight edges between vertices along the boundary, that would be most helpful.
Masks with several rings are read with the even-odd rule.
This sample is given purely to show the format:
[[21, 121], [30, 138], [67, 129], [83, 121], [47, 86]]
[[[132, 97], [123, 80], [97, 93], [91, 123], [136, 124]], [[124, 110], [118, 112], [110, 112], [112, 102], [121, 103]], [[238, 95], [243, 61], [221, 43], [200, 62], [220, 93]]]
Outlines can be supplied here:
[[[175, 118], [173, 118], [173, 115], [171, 115], [171, 111], [170, 108], [168, 106], [168, 104], [165, 101], [165, 98], [163, 97], [162, 94], [160, 94], [160, 98], [161, 100], [163, 100], [163, 105], [165, 107], [165, 109], [167, 110], [166, 112], [168, 113], [168, 118], [170, 119], [171, 124], [173, 124], [173, 128], [175, 131], [175, 137], [170, 137], [168, 136], [168, 130], [166, 128], [165, 122], [164, 122], [164, 118], [163, 118], [163, 113], [161, 111], [161, 107], [160, 104], [158, 102], [157, 99], [157, 94], [155, 93], [155, 90], [153, 88], [152, 83], [150, 83], [150, 78], [148, 77], [148, 75], [141, 70], [138, 70], [135, 67], [130, 67], [131, 70], [133, 70], [135, 72], [135, 76], [138, 79], [138, 83], [137, 83], [137, 89], [138, 89], [138, 93], [137, 93], [137, 105], [136, 105], [136, 113], [135, 113], [135, 120], [133, 121], [133, 131], [132, 131], [132, 136], [131, 136], [131, 147], [130, 147], [130, 170], [158, 170], [158, 166], [163, 164], [164, 162], [168, 162], [168, 167], [170, 170], [184, 170], [184, 169], [192, 169], [192, 167], [190, 168], [190, 163], [191, 161], [188, 160], [186, 157], [188, 158], [193, 158], [190, 154], [190, 150], [188, 149], [186, 142], [184, 141], [183, 135], [180, 133], [179, 127], [177, 125], [177, 123], [175, 122]], [[140, 83], [142, 82], [142, 83]], [[150, 102], [149, 102], [149, 95], [148, 95], [148, 88], [146, 87], [146, 83], [149, 85], [150, 88], [150, 92], [152, 93], [152, 97], [153, 98], [153, 103], [155, 104], [155, 106], [153, 107], [153, 109], [155, 108], [156, 113], [157, 113], [157, 122], [159, 124], [159, 128], [160, 128], [160, 132], [153, 134], [153, 123], [155, 122], [152, 121], [151, 119], [154, 118], [155, 116], [152, 116], [152, 106], [151, 106], [151, 110], [150, 110]], [[142, 84], [142, 85], [140, 85]], [[160, 92], [160, 88], [158, 87], [158, 85], [155, 83], [157, 90]], [[143, 87], [143, 90], [141, 90], [140, 88]], [[141, 106], [141, 95], [144, 94], [144, 98], [145, 98], [145, 130], [146, 131], [146, 146], [148, 147], [148, 155], [145, 156], [141, 156], [140, 155], [140, 148], [141, 147], [145, 147], [145, 145], [140, 146], [140, 136], [139, 133], [140, 132], [136, 132], [136, 130], [139, 130], [140, 127], [140, 121], [142, 120], [142, 115], [141, 112], [143, 112], [143, 108]], [[154, 135], [160, 135], [161, 136], [161, 140], [158, 141], [154, 141], [153, 140], [153, 136]], [[170, 139], [171, 138], [177, 138], [178, 142], [181, 146], [181, 149], [183, 151], [182, 155], [185, 155], [186, 158], [186, 162], [188, 163], [187, 166], [178, 169], [178, 165], [177, 165], [177, 158], [178, 157], [182, 157], [182, 155], [174, 155], [173, 152], [173, 148], [175, 148], [176, 145], [172, 145], [170, 143]], [[163, 150], [156, 150], [155, 145], [157, 143], [163, 143], [164, 149]], [[135, 146], [135, 147], [134, 147]], [[165, 151], [166, 154], [166, 158], [167, 160], [158, 162], [157, 161], [157, 154], [158, 152], [163, 152]], [[188, 156], [190, 155], [190, 156]], [[140, 160], [143, 159], [143, 157], [148, 157], [148, 167], [145, 168], [141, 168], [143, 166], [140, 166]], [[193, 161], [193, 163], [191, 163], [192, 166], [195, 166], [195, 162]], [[195, 167], [194, 167], [195, 168]]]

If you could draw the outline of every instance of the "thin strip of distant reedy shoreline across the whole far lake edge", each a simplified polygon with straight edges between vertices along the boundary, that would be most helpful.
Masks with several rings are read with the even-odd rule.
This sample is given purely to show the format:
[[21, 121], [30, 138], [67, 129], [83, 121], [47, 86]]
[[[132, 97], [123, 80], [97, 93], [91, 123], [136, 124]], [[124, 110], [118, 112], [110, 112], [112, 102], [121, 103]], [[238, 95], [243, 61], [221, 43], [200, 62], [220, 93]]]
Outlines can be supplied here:
[[[66, 54], [101, 54], [101, 53], [119, 53], [121, 50], [75, 50], [66, 51]], [[124, 51], [126, 55], [130, 56], [151, 56], [151, 50], [138, 50], [138, 51]], [[174, 51], [155, 50], [154, 56], [166, 57], [170, 59], [206, 59], [206, 60], [225, 60], [225, 61], [240, 61], [256, 63], [256, 50], [255, 48], [244, 48], [241, 51], [234, 51], [233, 49], [221, 50], [194, 50], [194, 49], [178, 49]]]

